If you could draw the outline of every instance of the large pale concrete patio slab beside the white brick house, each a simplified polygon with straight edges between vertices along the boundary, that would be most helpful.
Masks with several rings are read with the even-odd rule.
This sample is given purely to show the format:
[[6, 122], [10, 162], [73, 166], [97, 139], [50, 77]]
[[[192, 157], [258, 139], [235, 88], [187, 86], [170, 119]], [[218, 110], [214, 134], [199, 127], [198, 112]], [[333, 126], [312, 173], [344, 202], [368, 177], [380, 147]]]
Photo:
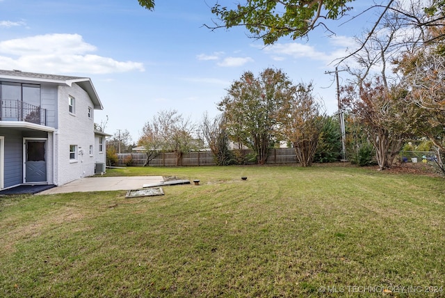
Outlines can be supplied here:
[[54, 187], [39, 194], [65, 194], [69, 192], [129, 190], [142, 188], [147, 183], [161, 183], [162, 176], [86, 177], [66, 185]]

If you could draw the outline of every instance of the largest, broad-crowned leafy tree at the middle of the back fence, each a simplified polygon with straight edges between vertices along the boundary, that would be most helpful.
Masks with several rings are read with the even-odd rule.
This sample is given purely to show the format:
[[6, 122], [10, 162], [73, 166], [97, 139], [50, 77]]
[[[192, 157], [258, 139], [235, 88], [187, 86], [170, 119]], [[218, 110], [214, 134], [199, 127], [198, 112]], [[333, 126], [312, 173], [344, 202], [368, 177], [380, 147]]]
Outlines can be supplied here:
[[267, 68], [259, 77], [244, 72], [218, 103], [229, 138], [251, 148], [258, 164], [266, 163], [268, 150], [277, 137], [278, 112], [292, 94], [286, 74]]

